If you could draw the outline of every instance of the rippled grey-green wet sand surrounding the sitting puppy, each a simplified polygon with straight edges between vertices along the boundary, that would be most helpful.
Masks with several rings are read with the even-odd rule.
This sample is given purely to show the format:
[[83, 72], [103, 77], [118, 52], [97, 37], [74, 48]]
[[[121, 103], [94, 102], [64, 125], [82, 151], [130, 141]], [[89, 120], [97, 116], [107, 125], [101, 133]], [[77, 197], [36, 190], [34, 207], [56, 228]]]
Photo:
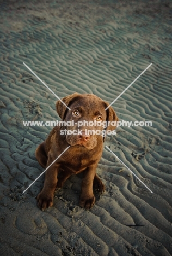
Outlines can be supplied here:
[[[1, 255], [170, 256], [172, 254], [172, 5], [170, 1], [2, 1]], [[52, 127], [23, 121], [59, 119], [58, 97], [93, 93], [109, 103], [144, 71], [113, 108], [119, 127], [97, 173], [106, 185], [90, 211], [78, 206], [73, 176], [44, 212], [36, 205], [44, 175], [36, 147]], [[60, 120], [60, 119], [59, 119]]]

